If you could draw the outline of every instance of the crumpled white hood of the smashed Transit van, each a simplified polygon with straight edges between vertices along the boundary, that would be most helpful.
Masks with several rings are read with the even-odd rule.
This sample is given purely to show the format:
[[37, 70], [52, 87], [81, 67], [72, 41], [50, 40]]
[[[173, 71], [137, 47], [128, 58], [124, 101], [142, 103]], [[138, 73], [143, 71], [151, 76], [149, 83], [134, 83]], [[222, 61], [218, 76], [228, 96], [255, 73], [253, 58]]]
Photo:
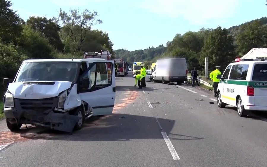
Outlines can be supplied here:
[[7, 90], [14, 98], [42, 99], [58, 96], [71, 84], [68, 81], [13, 82], [9, 83]]

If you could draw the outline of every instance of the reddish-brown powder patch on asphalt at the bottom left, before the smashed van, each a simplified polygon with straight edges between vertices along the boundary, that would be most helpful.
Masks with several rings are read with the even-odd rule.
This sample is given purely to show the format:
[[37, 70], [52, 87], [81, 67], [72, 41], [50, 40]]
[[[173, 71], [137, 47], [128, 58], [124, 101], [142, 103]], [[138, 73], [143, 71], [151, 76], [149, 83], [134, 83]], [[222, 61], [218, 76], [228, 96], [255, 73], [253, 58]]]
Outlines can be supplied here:
[[0, 132], [0, 145], [9, 143], [23, 142], [28, 140], [45, 139], [52, 134], [39, 133], [14, 133], [11, 131]]

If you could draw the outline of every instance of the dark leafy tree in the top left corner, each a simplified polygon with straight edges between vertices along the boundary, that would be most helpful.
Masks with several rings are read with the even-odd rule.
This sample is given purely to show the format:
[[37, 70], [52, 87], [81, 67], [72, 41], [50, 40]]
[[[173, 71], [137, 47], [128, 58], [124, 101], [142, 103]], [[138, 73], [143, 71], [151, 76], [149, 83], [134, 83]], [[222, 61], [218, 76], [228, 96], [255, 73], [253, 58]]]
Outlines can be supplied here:
[[1, 41], [4, 43], [15, 42], [16, 37], [20, 35], [22, 31], [22, 20], [20, 16], [16, 13], [17, 11], [13, 11], [9, 9], [12, 6], [10, 1], [1, 0], [0, 1], [0, 37]]

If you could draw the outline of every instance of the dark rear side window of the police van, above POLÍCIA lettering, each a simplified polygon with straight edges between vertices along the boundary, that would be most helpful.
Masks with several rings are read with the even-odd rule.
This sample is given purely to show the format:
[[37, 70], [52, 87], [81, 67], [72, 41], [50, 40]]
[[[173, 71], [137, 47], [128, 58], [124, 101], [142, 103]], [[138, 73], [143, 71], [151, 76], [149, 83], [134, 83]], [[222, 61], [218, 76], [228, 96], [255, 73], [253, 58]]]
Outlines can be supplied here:
[[232, 67], [229, 79], [246, 80], [249, 64], [235, 64]]

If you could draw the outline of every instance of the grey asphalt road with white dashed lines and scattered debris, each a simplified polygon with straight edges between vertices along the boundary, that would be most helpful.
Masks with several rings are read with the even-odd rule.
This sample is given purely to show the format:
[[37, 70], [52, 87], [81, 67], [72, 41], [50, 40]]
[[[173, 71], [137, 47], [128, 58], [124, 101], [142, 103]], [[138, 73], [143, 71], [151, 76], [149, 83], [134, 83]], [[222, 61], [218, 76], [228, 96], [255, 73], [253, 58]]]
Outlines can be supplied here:
[[[220, 109], [211, 92], [116, 77], [113, 114], [71, 134], [0, 122], [0, 166], [266, 166], [266, 116]], [[209, 102], [214, 102], [210, 104]]]

